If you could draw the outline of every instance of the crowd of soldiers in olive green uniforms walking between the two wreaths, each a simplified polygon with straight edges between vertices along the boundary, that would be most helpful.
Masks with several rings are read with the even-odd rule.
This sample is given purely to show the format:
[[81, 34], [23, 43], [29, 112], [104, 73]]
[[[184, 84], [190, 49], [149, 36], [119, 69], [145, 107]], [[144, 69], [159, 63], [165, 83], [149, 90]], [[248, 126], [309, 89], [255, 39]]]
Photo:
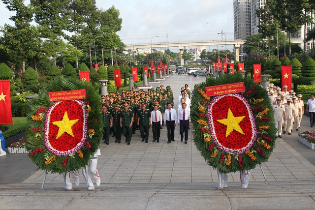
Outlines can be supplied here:
[[[188, 85], [182, 88], [181, 93], [184, 95], [182, 97], [190, 97]], [[136, 91], [133, 87], [132, 90], [102, 95], [100, 107], [104, 122], [104, 143], [109, 144], [110, 135], [115, 136], [116, 143], [121, 143], [122, 134], [124, 134], [125, 142], [130, 145], [132, 134], [135, 134], [136, 130], [140, 130], [142, 141], [148, 143], [151, 126], [153, 128], [153, 142], [159, 142], [160, 129], [163, 129], [162, 126], [165, 121], [164, 111], [168, 104], [173, 107], [175, 103], [177, 103], [177, 99], [174, 101], [171, 87], [167, 86], [164, 89], [163, 85], [156, 89], [148, 89], [148, 91]], [[153, 112], [155, 116], [151, 118], [151, 112], [154, 110], [156, 110]]]

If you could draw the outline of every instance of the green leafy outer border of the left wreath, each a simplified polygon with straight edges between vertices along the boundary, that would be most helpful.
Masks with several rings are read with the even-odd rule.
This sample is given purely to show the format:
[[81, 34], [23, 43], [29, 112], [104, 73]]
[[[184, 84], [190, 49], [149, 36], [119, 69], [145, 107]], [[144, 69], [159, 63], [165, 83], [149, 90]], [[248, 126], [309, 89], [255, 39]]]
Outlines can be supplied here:
[[[54, 154], [51, 153], [45, 147], [44, 143], [44, 125], [45, 125], [45, 115], [42, 115], [41, 121], [32, 120], [32, 116], [35, 115], [36, 111], [40, 108], [49, 108], [54, 102], [49, 100], [48, 92], [52, 91], [63, 91], [63, 90], [80, 90], [85, 89], [87, 98], [83, 99], [83, 102], [89, 101], [89, 106], [91, 107], [91, 112], [88, 112], [88, 130], [94, 129], [95, 134], [89, 136], [87, 134], [86, 142], [90, 143], [90, 146], [84, 144], [79, 151], [83, 153], [83, 158], [78, 155], [78, 152], [69, 155], [58, 156], [55, 155], [55, 160], [50, 164], [46, 165], [45, 161], [52, 157]], [[101, 119], [100, 109], [99, 109], [99, 87], [93, 87], [90, 83], [82, 82], [76, 78], [56, 78], [54, 81], [47, 83], [39, 91], [37, 98], [32, 98], [32, 104], [30, 107], [30, 112], [27, 116], [28, 120], [28, 131], [26, 134], [26, 148], [28, 150], [28, 156], [30, 157], [32, 151], [38, 148], [41, 152], [33, 152], [32, 162], [42, 170], [47, 170], [51, 173], [65, 173], [67, 171], [76, 171], [82, 167], [88, 165], [91, 156], [93, 156], [96, 150], [99, 148], [100, 139], [102, 137], [101, 129], [103, 127], [103, 122]], [[33, 131], [31, 128], [40, 128], [42, 132]], [[64, 164], [65, 163], [65, 164]]]

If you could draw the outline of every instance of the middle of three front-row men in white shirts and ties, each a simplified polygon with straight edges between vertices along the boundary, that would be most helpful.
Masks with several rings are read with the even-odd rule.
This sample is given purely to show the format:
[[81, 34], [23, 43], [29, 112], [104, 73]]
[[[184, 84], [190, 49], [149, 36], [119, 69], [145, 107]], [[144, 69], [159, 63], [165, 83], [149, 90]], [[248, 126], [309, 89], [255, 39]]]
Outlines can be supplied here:
[[177, 115], [176, 110], [172, 108], [172, 104], [167, 104], [167, 109], [164, 112], [164, 126], [167, 128], [167, 143], [175, 141], [174, 130], [176, 126]]

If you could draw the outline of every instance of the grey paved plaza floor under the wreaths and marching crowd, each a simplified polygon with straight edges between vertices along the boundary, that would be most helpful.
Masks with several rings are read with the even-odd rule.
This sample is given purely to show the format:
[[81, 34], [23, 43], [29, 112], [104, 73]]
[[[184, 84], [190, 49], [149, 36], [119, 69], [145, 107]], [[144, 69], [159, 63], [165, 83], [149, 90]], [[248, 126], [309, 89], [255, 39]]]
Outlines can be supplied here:
[[[205, 81], [205, 77], [171, 75], [153, 88], [170, 85], [177, 103], [181, 87]], [[177, 105], [175, 106], [177, 109]], [[311, 130], [303, 116], [300, 131]], [[150, 130], [151, 131], [151, 130]], [[283, 134], [269, 161], [252, 170], [249, 187], [241, 188], [240, 174], [231, 173], [228, 188], [218, 189], [213, 170], [192, 141], [180, 141], [179, 126], [175, 142], [167, 144], [167, 130], [160, 142], [141, 142], [140, 132], [130, 145], [101, 143], [97, 169], [101, 179], [95, 190], [87, 190], [83, 176], [73, 190], [63, 190], [63, 176], [48, 174], [44, 189], [42, 170], [26, 154], [0, 157], [0, 209], [315, 209], [315, 151], [297, 140], [298, 131]], [[74, 181], [73, 181], [74, 183]]]

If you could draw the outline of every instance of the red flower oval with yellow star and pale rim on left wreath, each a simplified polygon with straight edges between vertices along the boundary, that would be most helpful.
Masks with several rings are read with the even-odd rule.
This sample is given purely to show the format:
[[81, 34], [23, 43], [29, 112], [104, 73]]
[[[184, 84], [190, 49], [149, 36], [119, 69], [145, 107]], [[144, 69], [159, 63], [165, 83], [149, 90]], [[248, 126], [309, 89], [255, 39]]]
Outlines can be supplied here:
[[45, 121], [45, 147], [56, 155], [78, 151], [87, 137], [87, 111], [80, 100], [55, 102]]

